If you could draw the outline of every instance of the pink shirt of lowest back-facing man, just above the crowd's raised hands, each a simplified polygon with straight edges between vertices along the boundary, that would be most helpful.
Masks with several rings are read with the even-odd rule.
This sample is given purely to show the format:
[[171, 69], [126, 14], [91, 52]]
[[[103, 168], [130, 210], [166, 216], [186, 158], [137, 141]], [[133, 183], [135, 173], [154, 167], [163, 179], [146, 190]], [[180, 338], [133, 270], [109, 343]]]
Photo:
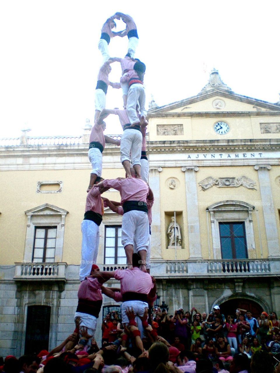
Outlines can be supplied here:
[[154, 287], [151, 276], [141, 271], [138, 267], [132, 269], [117, 269], [115, 270], [115, 279], [120, 280], [121, 294], [126, 292], [134, 292], [140, 294], [149, 294]]

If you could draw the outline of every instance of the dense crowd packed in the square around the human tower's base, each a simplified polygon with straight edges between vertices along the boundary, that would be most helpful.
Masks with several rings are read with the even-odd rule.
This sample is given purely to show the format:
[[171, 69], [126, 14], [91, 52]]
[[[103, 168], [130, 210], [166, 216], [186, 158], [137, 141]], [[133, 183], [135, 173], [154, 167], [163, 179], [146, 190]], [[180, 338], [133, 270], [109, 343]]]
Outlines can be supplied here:
[[[280, 321], [275, 312], [257, 318], [250, 310], [237, 309], [225, 317], [215, 305], [209, 314], [195, 307], [169, 314], [151, 308], [142, 318], [144, 336], [127, 311], [129, 327], [119, 313], [108, 313], [102, 322], [102, 341], [86, 327], [76, 328], [50, 352], [43, 350], [18, 359], [0, 358], [6, 373], [280, 373]], [[90, 347], [88, 348], [88, 341]]]

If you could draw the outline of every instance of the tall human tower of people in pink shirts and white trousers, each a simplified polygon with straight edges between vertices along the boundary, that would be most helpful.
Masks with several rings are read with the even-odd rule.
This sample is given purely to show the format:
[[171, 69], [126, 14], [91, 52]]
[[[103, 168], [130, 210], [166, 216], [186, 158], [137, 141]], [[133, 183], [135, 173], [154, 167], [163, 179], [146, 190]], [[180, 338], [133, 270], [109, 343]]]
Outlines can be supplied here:
[[[112, 31], [116, 27], [114, 19], [122, 19], [126, 29]], [[115, 36], [128, 36], [128, 53], [124, 58], [110, 57], [108, 45]], [[101, 29], [98, 49], [103, 56], [95, 89], [94, 126], [89, 136], [88, 156], [92, 165], [87, 189], [84, 220], [82, 221], [82, 253], [78, 290], [78, 307], [75, 318], [79, 317], [80, 326], [88, 329], [94, 336], [97, 318], [102, 306], [102, 293], [122, 303], [122, 322], [131, 324], [135, 316], [143, 317], [145, 309], [155, 297], [154, 279], [150, 276], [150, 248], [152, 222], [151, 207], [154, 201], [148, 186], [149, 165], [146, 154], [145, 134], [148, 122], [145, 110], [145, 89], [143, 79], [145, 65], [135, 59], [138, 34], [135, 22], [129, 15], [115, 13], [107, 19]], [[120, 83], [109, 81], [110, 64], [120, 62], [122, 76]], [[122, 88], [123, 110], [106, 109], [108, 85]], [[118, 115], [123, 128], [121, 140], [104, 135], [104, 119], [108, 115]], [[120, 161], [125, 169], [125, 178], [104, 180], [101, 178], [102, 152], [106, 142], [120, 145]], [[101, 197], [109, 188], [120, 192], [121, 202]], [[120, 215], [122, 220], [122, 245], [125, 248], [128, 268], [101, 272], [96, 265], [99, 226], [104, 214], [104, 206]], [[120, 289], [110, 289], [103, 285], [110, 278], [120, 280]], [[134, 321], [132, 322], [135, 323]], [[139, 323], [140, 324], [140, 323]], [[146, 324], [144, 323], [145, 327]], [[142, 335], [143, 327], [133, 330], [135, 336]], [[90, 343], [90, 339], [89, 342]]]

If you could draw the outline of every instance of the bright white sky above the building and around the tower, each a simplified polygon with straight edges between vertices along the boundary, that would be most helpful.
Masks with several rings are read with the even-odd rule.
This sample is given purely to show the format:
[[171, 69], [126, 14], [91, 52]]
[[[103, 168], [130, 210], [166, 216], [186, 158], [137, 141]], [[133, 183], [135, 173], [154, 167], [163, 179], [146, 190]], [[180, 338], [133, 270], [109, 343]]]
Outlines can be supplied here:
[[[1, 138], [26, 127], [33, 136], [81, 135], [86, 118], [93, 124], [97, 45], [115, 12], [136, 22], [147, 106], [151, 94], [158, 106], [196, 95], [213, 67], [235, 93], [279, 100], [280, 1], [1, 0]], [[111, 56], [125, 56], [127, 45], [113, 38]], [[119, 64], [111, 66], [119, 81]], [[106, 100], [121, 108], [122, 91], [108, 88]], [[121, 132], [116, 116], [106, 132]]]

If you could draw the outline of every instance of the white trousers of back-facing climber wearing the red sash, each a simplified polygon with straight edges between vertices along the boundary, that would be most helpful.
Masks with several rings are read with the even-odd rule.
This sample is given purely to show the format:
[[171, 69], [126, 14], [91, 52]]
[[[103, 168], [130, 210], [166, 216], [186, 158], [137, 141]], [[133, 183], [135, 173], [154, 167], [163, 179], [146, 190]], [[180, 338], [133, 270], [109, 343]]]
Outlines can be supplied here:
[[136, 113], [136, 104], [139, 101], [140, 114], [146, 116], [145, 110], [145, 88], [141, 83], [132, 84], [128, 90], [128, 103], [126, 105], [126, 113], [130, 123], [138, 122], [139, 118]]

